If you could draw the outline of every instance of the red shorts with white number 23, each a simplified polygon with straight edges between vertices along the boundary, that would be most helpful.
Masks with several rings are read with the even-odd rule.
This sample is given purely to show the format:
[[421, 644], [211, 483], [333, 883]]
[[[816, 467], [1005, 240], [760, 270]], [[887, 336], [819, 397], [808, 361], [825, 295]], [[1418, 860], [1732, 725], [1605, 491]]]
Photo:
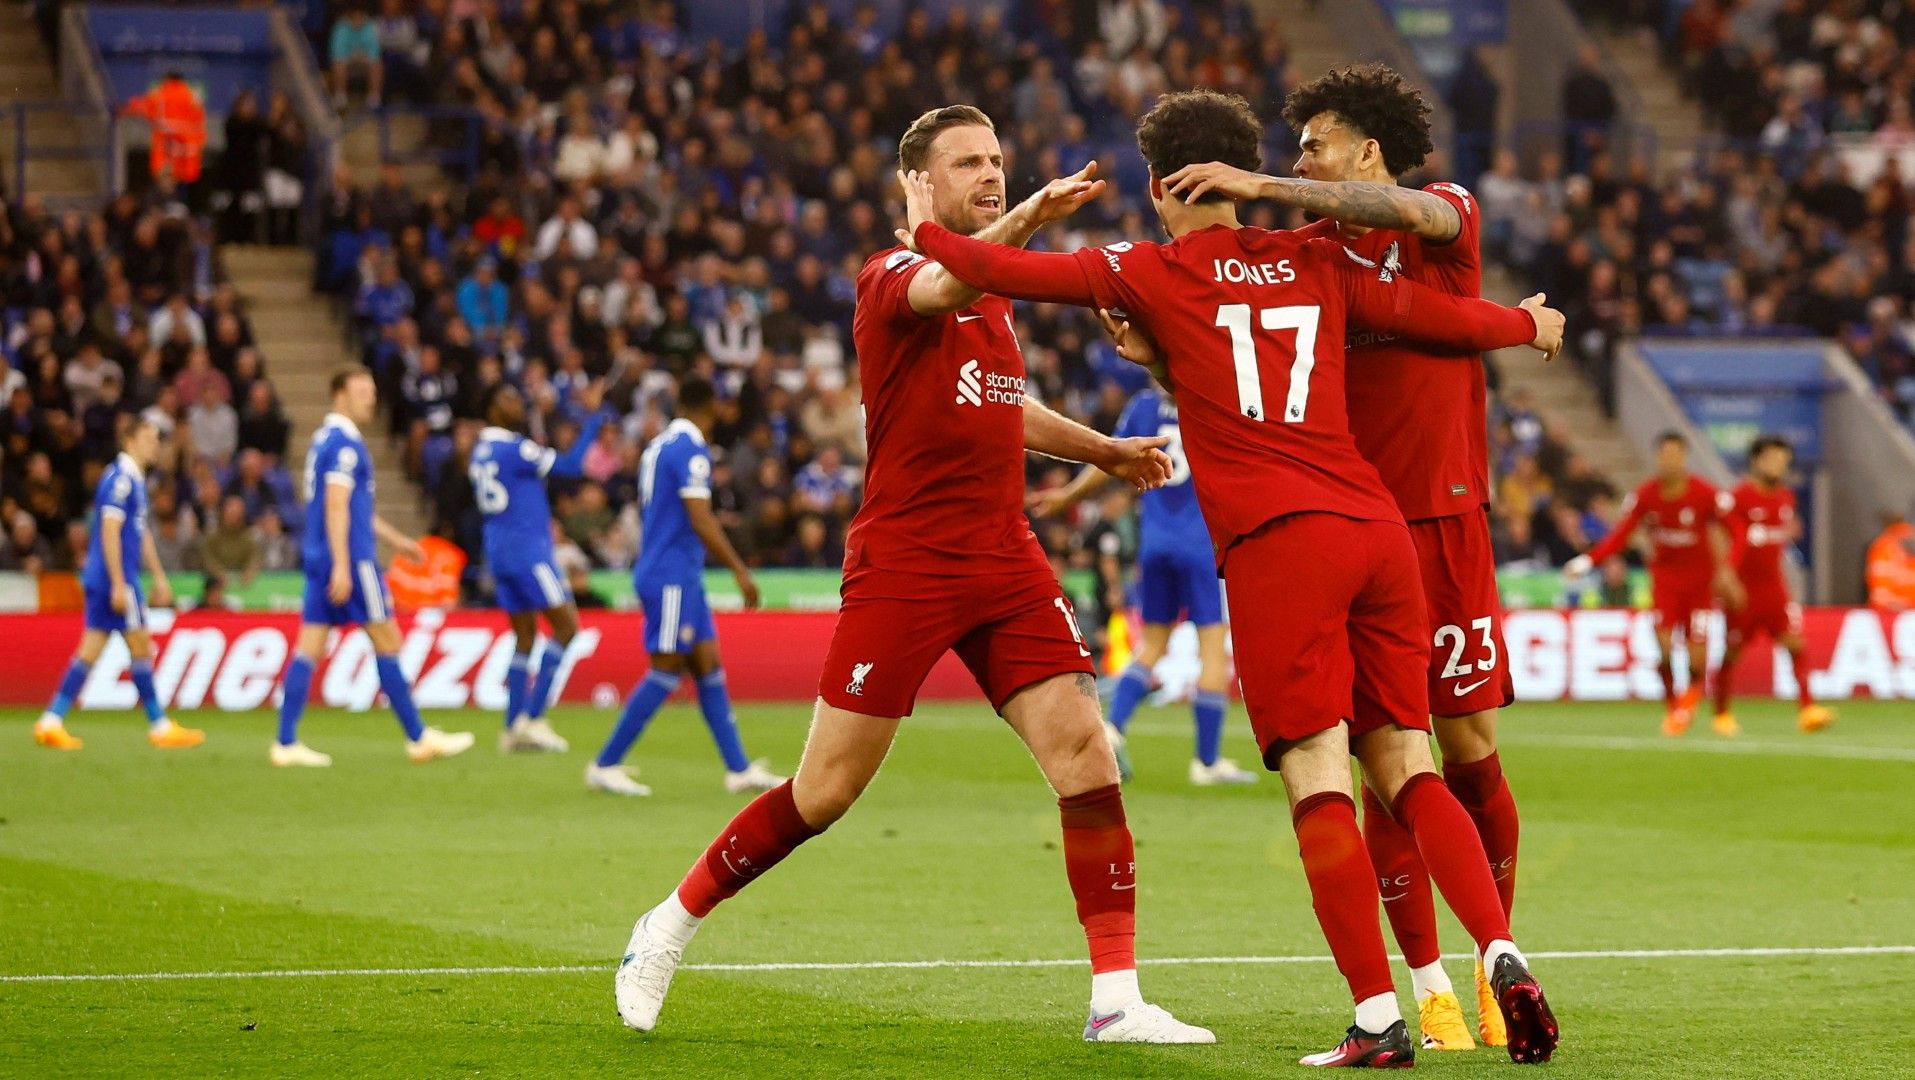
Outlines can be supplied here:
[[1517, 699], [1503, 647], [1503, 597], [1496, 588], [1490, 511], [1409, 523], [1432, 628], [1431, 712], [1469, 716]]

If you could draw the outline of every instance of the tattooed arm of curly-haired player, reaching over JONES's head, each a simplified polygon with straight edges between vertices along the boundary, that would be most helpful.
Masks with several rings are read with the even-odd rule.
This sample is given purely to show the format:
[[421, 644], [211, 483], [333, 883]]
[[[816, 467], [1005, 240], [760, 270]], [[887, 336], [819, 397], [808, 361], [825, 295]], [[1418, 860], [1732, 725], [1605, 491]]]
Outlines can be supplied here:
[[1346, 226], [1394, 228], [1436, 243], [1448, 243], [1463, 232], [1463, 218], [1452, 203], [1398, 184], [1266, 176], [1210, 161], [1185, 165], [1164, 176], [1164, 190], [1183, 195], [1185, 203], [1195, 203], [1206, 191], [1231, 199], [1272, 199]]

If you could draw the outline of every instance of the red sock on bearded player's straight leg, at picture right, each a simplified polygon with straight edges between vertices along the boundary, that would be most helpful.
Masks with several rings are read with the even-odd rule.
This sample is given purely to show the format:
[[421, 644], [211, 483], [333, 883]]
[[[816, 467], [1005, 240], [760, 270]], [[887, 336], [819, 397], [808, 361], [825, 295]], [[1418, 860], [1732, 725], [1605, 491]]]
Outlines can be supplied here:
[[1090, 944], [1090, 971], [1138, 967], [1138, 850], [1115, 783], [1057, 800], [1065, 875]]

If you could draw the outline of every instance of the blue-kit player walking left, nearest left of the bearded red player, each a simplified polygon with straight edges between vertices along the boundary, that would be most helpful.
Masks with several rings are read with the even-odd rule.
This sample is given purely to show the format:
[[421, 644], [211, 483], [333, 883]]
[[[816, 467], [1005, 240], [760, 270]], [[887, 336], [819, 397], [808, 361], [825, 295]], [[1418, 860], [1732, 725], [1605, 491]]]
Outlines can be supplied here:
[[597, 791], [651, 795], [620, 762], [687, 672], [697, 680], [699, 710], [724, 758], [726, 791], [770, 791], [785, 781], [764, 762], [745, 756], [724, 668], [718, 666], [712, 609], [705, 603], [705, 553], [710, 551], [732, 571], [745, 607], [758, 607], [758, 584], [712, 513], [712, 456], [705, 439], [718, 417], [716, 400], [705, 379], [684, 379], [678, 385], [678, 419], [645, 446], [638, 465], [642, 546], [632, 586], [645, 607], [651, 672], [626, 695], [605, 749], [586, 766], [586, 787]]

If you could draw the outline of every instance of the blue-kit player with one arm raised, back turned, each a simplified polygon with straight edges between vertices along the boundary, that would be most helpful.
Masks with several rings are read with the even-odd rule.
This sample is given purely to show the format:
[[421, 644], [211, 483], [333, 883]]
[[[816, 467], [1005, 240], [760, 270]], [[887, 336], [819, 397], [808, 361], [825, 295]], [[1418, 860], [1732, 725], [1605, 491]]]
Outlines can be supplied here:
[[[576, 477], [586, 448], [603, 423], [601, 387], [582, 387], [578, 404], [586, 421], [573, 448], [559, 454], [525, 437], [525, 396], [511, 383], [500, 383], [484, 408], [490, 427], [479, 433], [467, 471], [479, 513], [484, 515], [484, 561], [492, 569], [498, 605], [511, 620], [517, 647], [506, 670], [506, 730], [498, 737], [502, 753], [565, 753], [565, 741], [546, 722], [552, 684], [559, 661], [578, 634], [578, 607], [573, 590], [552, 557], [552, 506], [546, 477]], [[532, 678], [532, 645], [538, 643], [538, 615], [546, 615], [552, 640], [538, 653]], [[527, 697], [530, 684], [530, 697]]]

